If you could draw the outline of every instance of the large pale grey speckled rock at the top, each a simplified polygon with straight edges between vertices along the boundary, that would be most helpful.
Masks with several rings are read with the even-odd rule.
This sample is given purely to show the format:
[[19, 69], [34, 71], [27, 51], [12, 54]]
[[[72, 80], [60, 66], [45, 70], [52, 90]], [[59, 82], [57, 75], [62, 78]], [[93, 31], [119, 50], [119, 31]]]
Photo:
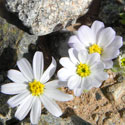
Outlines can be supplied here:
[[6, 0], [9, 11], [18, 13], [35, 35], [45, 35], [74, 24], [92, 0]]

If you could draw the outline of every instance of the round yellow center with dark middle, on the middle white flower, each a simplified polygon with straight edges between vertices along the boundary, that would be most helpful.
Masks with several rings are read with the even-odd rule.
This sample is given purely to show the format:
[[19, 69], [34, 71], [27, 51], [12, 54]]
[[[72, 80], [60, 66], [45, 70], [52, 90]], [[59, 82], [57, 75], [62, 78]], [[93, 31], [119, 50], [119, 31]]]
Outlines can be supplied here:
[[86, 77], [90, 75], [91, 71], [87, 64], [80, 63], [77, 66], [76, 73], [81, 77]]

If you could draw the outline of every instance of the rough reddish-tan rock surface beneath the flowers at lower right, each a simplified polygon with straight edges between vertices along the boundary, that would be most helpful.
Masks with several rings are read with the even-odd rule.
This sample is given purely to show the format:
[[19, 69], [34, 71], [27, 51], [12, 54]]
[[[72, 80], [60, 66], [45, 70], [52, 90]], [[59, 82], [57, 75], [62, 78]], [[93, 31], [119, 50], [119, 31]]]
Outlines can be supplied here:
[[[125, 81], [117, 83], [111, 72], [109, 75], [109, 79], [103, 83], [101, 88], [93, 88], [83, 93], [80, 97], [75, 97], [73, 101], [59, 102], [63, 111], [66, 112], [66, 107], [68, 107], [70, 111], [73, 110], [77, 116], [85, 119], [92, 125], [124, 125]], [[72, 94], [72, 91], [66, 88], [62, 90]], [[116, 98], [110, 98], [111, 96], [117, 96], [117, 100], [115, 100]], [[69, 116], [72, 115], [71, 113]]]

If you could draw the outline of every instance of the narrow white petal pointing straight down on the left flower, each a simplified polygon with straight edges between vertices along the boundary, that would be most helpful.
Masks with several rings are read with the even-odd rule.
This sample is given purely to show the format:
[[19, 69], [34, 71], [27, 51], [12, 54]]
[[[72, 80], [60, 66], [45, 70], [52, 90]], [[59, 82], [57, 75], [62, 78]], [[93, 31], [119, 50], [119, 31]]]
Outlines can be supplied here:
[[38, 97], [33, 101], [32, 109], [30, 112], [30, 121], [32, 124], [38, 124], [41, 116], [41, 101]]

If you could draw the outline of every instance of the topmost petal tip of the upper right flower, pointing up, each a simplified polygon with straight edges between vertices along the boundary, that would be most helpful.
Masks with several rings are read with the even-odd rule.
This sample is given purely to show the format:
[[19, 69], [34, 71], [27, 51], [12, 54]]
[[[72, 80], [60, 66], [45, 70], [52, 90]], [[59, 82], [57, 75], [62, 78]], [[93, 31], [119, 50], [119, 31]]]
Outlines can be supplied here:
[[104, 23], [100, 21], [94, 21], [94, 23], [91, 26], [91, 29], [93, 30], [95, 36], [98, 34], [98, 32], [104, 28]]

